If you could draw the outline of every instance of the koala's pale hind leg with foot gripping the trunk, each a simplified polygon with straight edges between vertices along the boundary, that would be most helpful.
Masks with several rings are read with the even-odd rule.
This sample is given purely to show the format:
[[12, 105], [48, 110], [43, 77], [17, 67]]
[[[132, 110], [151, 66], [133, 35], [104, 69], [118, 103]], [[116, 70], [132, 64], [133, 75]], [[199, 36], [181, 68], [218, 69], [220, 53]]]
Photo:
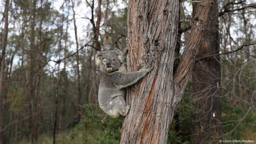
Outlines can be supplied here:
[[116, 106], [115, 108], [118, 110], [120, 115], [127, 115], [127, 113], [130, 110], [131, 105], [126, 105], [126, 102], [124, 100], [123, 96], [117, 96], [115, 99]]

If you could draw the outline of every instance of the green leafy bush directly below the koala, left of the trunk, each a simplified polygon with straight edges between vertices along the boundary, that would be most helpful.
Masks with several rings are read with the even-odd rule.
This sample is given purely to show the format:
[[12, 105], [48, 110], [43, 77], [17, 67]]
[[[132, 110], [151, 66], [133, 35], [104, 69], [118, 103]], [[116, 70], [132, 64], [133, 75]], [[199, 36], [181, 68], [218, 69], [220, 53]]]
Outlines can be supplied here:
[[83, 106], [86, 116], [72, 132], [71, 144], [119, 144], [121, 118], [111, 118], [95, 104]]

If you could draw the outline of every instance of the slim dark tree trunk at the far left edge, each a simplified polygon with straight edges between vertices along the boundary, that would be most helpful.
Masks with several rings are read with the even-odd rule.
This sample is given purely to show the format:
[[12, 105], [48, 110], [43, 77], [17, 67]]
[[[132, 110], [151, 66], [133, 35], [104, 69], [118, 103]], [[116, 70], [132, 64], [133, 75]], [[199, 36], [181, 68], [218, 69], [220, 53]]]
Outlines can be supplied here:
[[4, 121], [4, 98], [3, 98], [3, 79], [4, 79], [4, 58], [5, 49], [7, 45], [8, 36], [8, 11], [9, 11], [9, 0], [5, 1], [4, 8], [4, 34], [2, 36], [2, 46], [1, 46], [1, 57], [0, 57], [0, 144], [3, 144], [3, 121]]

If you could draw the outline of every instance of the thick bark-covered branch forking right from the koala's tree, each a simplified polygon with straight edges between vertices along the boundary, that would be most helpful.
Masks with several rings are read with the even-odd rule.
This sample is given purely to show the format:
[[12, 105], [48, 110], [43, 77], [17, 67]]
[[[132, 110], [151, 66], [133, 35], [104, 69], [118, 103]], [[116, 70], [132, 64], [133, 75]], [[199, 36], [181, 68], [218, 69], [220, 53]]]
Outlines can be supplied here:
[[191, 33], [173, 78], [174, 89], [177, 95], [174, 106], [180, 101], [191, 75], [212, 4], [212, 0], [201, 0], [200, 4], [197, 5], [196, 14], [192, 19]]

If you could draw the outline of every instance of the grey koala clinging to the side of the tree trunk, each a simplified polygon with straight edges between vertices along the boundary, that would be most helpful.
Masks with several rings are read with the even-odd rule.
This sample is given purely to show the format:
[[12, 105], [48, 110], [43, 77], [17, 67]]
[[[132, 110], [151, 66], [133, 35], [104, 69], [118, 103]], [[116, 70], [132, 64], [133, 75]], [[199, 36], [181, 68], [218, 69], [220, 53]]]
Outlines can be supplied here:
[[131, 105], [125, 102], [126, 88], [138, 82], [152, 68], [142, 68], [137, 72], [127, 72], [124, 57], [119, 49], [98, 52], [95, 64], [102, 72], [99, 84], [99, 106], [110, 117], [127, 115]]

